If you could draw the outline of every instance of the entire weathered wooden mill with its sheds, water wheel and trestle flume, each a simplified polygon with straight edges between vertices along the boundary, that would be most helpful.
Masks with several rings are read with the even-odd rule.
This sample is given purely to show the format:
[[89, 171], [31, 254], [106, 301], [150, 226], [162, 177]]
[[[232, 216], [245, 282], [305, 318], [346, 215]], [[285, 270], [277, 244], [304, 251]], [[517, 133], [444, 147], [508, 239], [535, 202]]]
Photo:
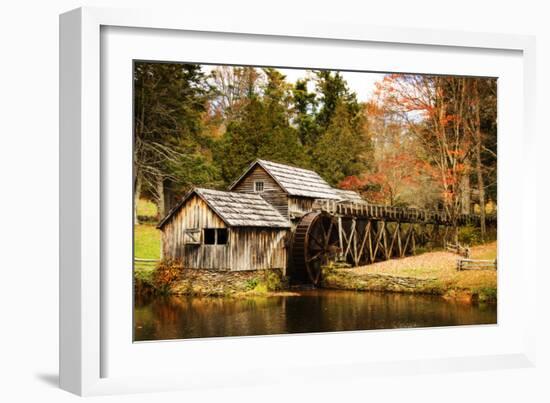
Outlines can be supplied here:
[[[330, 262], [360, 266], [442, 246], [451, 229], [479, 225], [459, 215], [368, 203], [316, 172], [256, 160], [228, 191], [193, 189], [159, 223], [164, 258], [193, 269], [278, 269], [319, 285]], [[496, 217], [487, 217], [496, 225]]]

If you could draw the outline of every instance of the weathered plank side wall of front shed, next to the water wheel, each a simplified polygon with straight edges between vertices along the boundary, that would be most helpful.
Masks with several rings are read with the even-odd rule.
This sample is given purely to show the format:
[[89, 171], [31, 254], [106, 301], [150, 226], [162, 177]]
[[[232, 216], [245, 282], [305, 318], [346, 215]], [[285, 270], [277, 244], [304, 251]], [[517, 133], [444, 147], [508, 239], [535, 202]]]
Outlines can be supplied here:
[[241, 227], [230, 232], [232, 270], [286, 270], [286, 229]]

